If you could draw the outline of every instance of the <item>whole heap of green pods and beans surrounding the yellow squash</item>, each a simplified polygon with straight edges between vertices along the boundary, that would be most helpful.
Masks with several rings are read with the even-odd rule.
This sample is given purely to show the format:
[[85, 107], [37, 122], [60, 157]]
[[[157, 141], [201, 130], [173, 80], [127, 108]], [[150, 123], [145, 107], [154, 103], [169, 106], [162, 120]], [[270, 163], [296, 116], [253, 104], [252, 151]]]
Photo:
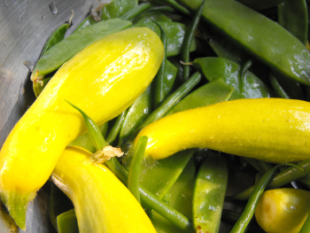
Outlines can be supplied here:
[[[35, 95], [68, 59], [105, 35], [128, 27], [150, 27], [159, 35], [165, 58], [151, 85], [98, 128], [81, 112], [89, 133], [70, 144], [92, 153], [107, 144], [120, 147], [125, 155], [105, 165], [141, 202], [158, 232], [265, 232], [252, 217], [263, 190], [310, 188], [309, 159], [275, 165], [190, 149], [155, 161], [143, 159], [147, 137], [131, 146], [141, 129], [173, 113], [240, 98], [309, 101], [306, 0], [112, 0], [96, 15], [101, 20], [89, 15], [66, 38], [71, 20], [50, 36], [31, 75]], [[78, 232], [71, 200], [50, 185], [55, 229]]]

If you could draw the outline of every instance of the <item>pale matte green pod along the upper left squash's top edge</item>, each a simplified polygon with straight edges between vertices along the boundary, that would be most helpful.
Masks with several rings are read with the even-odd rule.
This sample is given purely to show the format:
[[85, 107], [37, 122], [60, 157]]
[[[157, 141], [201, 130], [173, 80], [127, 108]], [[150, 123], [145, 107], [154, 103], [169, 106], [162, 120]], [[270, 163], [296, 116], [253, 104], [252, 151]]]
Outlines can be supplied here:
[[46, 51], [42, 58], [37, 62], [31, 79], [42, 79], [46, 74], [58, 69], [68, 59], [74, 57], [75, 53], [87, 47], [90, 43], [110, 35], [114, 32], [125, 29], [131, 25], [128, 20], [109, 19], [99, 22], [83, 30], [69, 35], [66, 39], [55, 44], [50, 50]]

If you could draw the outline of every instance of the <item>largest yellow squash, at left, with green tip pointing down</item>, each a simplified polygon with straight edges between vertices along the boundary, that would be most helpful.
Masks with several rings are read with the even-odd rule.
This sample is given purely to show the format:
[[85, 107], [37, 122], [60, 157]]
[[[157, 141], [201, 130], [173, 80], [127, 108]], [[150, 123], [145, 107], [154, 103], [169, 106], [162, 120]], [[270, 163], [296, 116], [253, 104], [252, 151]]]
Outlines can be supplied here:
[[0, 151], [0, 195], [21, 229], [27, 203], [49, 179], [66, 145], [86, 131], [81, 114], [103, 124], [133, 104], [164, 56], [158, 35], [136, 27], [107, 35], [58, 70]]

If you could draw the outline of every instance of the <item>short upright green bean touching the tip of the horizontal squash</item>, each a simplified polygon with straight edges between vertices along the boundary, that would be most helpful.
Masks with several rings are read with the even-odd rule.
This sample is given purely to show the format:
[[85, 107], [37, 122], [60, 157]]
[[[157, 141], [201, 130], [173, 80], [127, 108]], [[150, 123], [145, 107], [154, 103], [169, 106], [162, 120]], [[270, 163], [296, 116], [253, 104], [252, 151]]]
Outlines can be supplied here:
[[137, 201], [140, 203], [140, 175], [142, 170], [142, 162], [144, 159], [144, 151], [146, 148], [148, 137], [141, 136], [136, 144], [136, 148], [130, 163], [128, 172], [128, 190], [134, 195]]

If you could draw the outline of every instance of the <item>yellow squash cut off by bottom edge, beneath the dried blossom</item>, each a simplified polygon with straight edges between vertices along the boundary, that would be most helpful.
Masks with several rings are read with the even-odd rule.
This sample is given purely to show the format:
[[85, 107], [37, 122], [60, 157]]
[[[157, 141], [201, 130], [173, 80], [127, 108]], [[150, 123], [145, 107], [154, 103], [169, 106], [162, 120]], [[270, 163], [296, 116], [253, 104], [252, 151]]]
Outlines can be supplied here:
[[89, 151], [67, 147], [51, 179], [73, 201], [79, 231], [145, 233], [156, 230], [142, 206]]

